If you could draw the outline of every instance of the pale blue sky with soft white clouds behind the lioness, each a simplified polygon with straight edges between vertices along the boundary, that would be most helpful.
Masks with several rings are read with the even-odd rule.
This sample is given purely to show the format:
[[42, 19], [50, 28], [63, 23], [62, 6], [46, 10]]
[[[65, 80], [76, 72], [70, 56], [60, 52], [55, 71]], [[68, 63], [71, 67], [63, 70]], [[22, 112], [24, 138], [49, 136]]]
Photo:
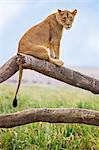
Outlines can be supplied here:
[[0, 0], [0, 64], [17, 53], [22, 35], [57, 9], [78, 13], [64, 29], [61, 57], [65, 66], [99, 67], [98, 0]]

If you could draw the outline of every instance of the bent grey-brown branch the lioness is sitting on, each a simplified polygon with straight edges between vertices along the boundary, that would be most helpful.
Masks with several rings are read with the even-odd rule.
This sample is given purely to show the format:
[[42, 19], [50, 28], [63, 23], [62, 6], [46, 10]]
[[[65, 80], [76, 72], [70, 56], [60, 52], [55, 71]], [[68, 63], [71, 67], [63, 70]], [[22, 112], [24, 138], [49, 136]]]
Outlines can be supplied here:
[[27, 55], [21, 57], [15, 56], [0, 68], [0, 83], [10, 78], [18, 71], [16, 59], [19, 60], [19, 62], [25, 61], [23, 63], [24, 69], [35, 70], [70, 85], [89, 90], [94, 94], [99, 94], [99, 80]]

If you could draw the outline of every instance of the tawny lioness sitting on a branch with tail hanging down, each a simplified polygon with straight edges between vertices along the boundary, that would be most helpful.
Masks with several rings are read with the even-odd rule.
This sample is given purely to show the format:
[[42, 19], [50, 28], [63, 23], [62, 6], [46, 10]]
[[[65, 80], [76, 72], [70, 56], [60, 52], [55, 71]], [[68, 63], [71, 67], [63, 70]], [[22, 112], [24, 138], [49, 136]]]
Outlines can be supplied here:
[[[64, 63], [59, 60], [60, 40], [63, 28], [70, 29], [77, 10], [59, 10], [49, 15], [44, 21], [33, 26], [21, 38], [18, 54], [27, 54], [39, 59], [47, 60], [58, 66]], [[22, 66], [19, 64], [19, 82], [16, 90], [13, 106], [17, 106], [17, 93], [22, 79]]]

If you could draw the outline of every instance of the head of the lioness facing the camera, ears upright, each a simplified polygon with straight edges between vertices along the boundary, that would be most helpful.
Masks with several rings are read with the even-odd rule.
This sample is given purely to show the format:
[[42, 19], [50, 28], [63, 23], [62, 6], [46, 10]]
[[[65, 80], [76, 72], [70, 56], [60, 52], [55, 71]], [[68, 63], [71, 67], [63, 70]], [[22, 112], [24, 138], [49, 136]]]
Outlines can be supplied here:
[[68, 11], [68, 10], [59, 10], [56, 13], [56, 20], [59, 24], [61, 24], [64, 28], [70, 29], [72, 27], [72, 23], [74, 21], [74, 17], [77, 13], [77, 10]]

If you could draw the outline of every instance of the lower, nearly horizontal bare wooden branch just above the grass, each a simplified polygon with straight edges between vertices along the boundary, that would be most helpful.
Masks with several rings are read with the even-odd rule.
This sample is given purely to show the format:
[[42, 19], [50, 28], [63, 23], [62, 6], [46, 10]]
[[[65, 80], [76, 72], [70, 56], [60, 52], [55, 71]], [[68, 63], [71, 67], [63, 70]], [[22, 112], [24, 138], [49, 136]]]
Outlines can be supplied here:
[[0, 115], [0, 128], [12, 128], [32, 122], [80, 123], [99, 126], [99, 112], [86, 109], [31, 109]]

